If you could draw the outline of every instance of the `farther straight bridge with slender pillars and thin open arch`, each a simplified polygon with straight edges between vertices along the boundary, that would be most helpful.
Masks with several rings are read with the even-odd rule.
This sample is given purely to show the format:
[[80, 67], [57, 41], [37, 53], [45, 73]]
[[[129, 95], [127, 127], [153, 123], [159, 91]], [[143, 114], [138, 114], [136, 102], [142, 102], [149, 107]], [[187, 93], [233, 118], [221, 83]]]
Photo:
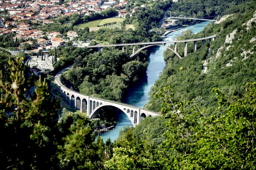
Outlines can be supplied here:
[[[206, 40], [210, 42], [211, 39], [215, 39], [216, 35], [207, 36], [204, 38], [198, 38], [198, 39], [186, 39], [186, 40], [174, 40], [174, 41], [157, 41], [157, 42], [137, 42], [137, 43], [127, 43], [127, 44], [108, 44], [108, 45], [89, 45], [88, 48], [100, 48], [102, 50], [103, 47], [122, 47], [122, 51], [124, 51], [125, 46], [133, 46], [133, 54], [131, 54], [130, 57], [135, 56], [137, 53], [142, 51], [145, 48], [151, 47], [151, 46], [162, 46], [165, 47], [172, 52], [174, 52], [178, 57], [181, 58], [181, 56], [177, 53], [177, 43], [184, 43], [184, 56], [187, 56], [187, 43], [188, 42], [194, 42], [194, 51], [197, 50], [197, 41], [202, 41], [202, 44], [205, 43]], [[174, 50], [168, 47], [166, 44], [174, 44]], [[135, 45], [142, 45], [143, 47], [139, 48], [137, 51], [135, 51]]]

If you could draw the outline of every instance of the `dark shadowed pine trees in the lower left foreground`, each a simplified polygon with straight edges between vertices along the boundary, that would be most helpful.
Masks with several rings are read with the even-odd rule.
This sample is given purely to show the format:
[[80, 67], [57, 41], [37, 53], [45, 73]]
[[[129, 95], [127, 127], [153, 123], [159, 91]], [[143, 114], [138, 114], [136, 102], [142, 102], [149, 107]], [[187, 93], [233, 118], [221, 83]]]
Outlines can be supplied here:
[[[101, 167], [105, 145], [94, 142], [89, 121], [80, 115], [63, 115], [59, 123], [58, 100], [50, 96], [46, 81], [35, 84], [18, 58], [9, 61], [10, 80], [0, 77], [1, 168], [94, 169]], [[30, 87], [35, 94], [26, 98]], [[13, 113], [12, 117], [6, 111]], [[107, 146], [106, 146], [107, 147]], [[101, 155], [101, 156], [100, 156]]]

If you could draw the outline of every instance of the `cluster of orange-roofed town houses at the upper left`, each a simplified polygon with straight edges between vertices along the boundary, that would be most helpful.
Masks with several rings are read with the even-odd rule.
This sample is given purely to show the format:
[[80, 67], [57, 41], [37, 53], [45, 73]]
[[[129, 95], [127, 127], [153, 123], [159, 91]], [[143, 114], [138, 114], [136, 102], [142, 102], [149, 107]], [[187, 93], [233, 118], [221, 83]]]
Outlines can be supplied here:
[[[0, 36], [15, 33], [14, 41], [22, 39], [23, 43], [33, 44], [37, 42], [37, 47], [52, 48], [64, 45], [63, 36], [58, 32], [43, 33], [41, 30], [32, 29], [32, 26], [27, 23], [53, 23], [52, 18], [56, 16], [69, 16], [73, 13], [79, 15], [91, 15], [92, 12], [101, 12], [110, 7], [118, 9], [118, 17], [125, 18], [127, 15], [132, 16], [139, 7], [133, 8], [130, 12], [125, 11], [129, 1], [108, 0], [73, 0], [61, 4], [60, 0], [0, 0]], [[146, 8], [145, 5], [141, 7]], [[8, 20], [6, 20], [8, 16]], [[1, 18], [2, 17], [2, 18]], [[6, 20], [6, 21], [5, 21]], [[27, 22], [29, 21], [29, 22]], [[67, 38], [73, 40], [78, 37], [75, 31], [67, 33]]]

